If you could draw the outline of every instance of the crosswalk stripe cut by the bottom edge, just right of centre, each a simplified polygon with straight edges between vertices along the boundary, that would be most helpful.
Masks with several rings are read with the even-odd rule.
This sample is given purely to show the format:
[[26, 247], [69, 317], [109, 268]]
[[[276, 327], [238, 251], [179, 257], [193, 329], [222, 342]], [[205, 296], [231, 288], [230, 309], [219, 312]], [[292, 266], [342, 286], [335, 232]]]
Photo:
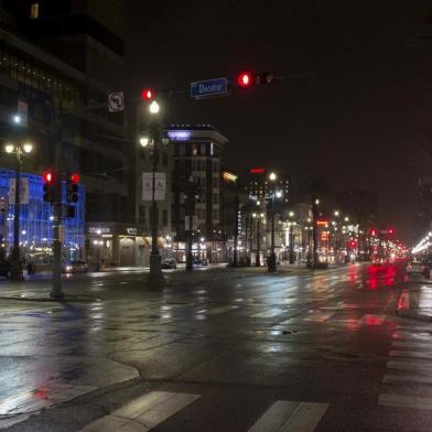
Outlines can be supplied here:
[[327, 408], [328, 403], [278, 400], [249, 432], [313, 432]]

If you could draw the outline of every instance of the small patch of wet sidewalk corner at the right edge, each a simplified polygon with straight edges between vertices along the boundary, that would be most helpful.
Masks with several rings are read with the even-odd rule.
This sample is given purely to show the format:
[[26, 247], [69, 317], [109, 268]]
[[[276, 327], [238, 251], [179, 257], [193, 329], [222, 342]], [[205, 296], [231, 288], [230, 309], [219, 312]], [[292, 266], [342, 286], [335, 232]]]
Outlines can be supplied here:
[[396, 314], [432, 322], [432, 283], [425, 281], [415, 290], [403, 290], [399, 295]]

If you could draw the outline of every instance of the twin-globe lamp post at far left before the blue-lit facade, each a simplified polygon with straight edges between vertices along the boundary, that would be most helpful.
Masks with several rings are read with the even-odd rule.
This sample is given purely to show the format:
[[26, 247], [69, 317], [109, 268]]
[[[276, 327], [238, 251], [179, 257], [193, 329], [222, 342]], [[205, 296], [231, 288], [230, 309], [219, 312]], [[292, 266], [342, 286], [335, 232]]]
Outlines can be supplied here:
[[22, 172], [22, 155], [29, 154], [33, 151], [33, 144], [23, 142], [20, 144], [7, 143], [4, 150], [8, 154], [15, 155], [15, 194], [14, 194], [14, 212], [13, 212], [13, 247], [11, 253], [11, 281], [24, 280], [21, 267], [21, 250], [20, 250], [20, 213], [21, 213], [21, 172]]

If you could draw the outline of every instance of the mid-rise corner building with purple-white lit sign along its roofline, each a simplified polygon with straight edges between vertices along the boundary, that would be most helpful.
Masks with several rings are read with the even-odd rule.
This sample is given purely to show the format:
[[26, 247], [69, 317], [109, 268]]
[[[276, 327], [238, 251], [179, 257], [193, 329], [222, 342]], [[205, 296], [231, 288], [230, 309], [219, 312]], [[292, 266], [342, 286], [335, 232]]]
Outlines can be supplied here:
[[[195, 257], [223, 262], [226, 257], [220, 214], [220, 159], [228, 139], [210, 125], [171, 125], [168, 138], [173, 147], [172, 223], [176, 259], [185, 260], [186, 224], [194, 220]], [[186, 191], [194, 195], [192, 208], [188, 208]]]

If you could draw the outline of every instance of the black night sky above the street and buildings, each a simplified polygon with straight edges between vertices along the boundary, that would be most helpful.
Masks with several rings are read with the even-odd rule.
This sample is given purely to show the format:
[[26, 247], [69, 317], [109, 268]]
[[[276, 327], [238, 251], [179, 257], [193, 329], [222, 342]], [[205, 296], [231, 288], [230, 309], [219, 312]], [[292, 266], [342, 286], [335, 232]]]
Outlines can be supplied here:
[[432, 149], [430, 0], [127, 3], [131, 94], [187, 93], [245, 68], [292, 76], [225, 98], [170, 99], [165, 122], [213, 125], [239, 173], [263, 165], [299, 184], [325, 176], [335, 190], [372, 190], [380, 220], [415, 238], [417, 176]]

